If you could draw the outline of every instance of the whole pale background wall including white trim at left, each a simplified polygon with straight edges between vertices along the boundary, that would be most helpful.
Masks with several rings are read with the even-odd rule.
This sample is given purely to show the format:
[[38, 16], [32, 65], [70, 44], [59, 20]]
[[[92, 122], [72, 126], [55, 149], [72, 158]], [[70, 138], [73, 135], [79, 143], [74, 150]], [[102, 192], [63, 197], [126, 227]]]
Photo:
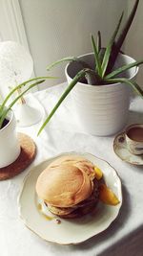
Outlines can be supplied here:
[[[105, 45], [120, 13], [124, 10], [126, 18], [133, 3], [134, 0], [0, 0], [0, 40], [19, 41], [28, 50], [29, 43], [36, 75], [47, 75], [46, 66], [53, 60], [92, 51], [91, 33], [101, 30]], [[136, 59], [143, 58], [142, 13], [140, 0], [125, 42], [125, 52]], [[64, 81], [64, 65], [50, 74], [60, 79], [49, 84]], [[137, 78], [140, 85], [142, 80], [143, 67]]]

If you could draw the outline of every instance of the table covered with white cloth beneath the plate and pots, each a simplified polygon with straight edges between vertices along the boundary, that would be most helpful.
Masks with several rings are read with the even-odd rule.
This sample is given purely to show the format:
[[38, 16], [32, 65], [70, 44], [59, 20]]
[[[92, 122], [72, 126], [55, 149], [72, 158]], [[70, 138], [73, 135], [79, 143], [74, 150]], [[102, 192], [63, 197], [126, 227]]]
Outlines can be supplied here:
[[[34, 97], [50, 111], [66, 83], [34, 93]], [[43, 122], [43, 121], [42, 121]], [[143, 123], [143, 104], [134, 98], [129, 124]], [[142, 256], [143, 255], [143, 168], [121, 161], [112, 150], [113, 137], [86, 134], [77, 123], [69, 95], [59, 107], [51, 123], [40, 136], [41, 124], [18, 128], [29, 134], [37, 145], [34, 162], [21, 175], [0, 182], [0, 256]], [[103, 233], [84, 244], [59, 245], [42, 241], [18, 217], [17, 196], [24, 177], [41, 161], [64, 151], [87, 151], [107, 160], [122, 179], [123, 205], [118, 218]]]

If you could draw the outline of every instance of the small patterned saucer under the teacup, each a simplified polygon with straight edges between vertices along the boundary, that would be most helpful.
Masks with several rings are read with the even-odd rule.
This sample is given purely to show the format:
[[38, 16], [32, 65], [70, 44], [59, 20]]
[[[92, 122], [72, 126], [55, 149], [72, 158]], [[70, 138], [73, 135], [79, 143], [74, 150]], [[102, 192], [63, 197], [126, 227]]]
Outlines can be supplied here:
[[135, 155], [127, 149], [125, 132], [118, 134], [113, 141], [113, 151], [125, 162], [133, 165], [143, 165], [143, 154]]

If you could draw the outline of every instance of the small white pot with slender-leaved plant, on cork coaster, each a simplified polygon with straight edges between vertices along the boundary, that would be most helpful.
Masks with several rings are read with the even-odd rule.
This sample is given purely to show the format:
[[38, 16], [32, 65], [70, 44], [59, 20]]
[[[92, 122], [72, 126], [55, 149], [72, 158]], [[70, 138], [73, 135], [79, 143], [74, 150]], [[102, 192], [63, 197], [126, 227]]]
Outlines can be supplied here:
[[[39, 77], [20, 83], [10, 91], [0, 105], [0, 168], [10, 165], [20, 154], [20, 145], [16, 133], [16, 120], [11, 107], [32, 87], [46, 79], [51, 79], [51, 77]], [[13, 100], [12, 96], [15, 91], [21, 89], [26, 84], [28, 84], [27, 88]]]

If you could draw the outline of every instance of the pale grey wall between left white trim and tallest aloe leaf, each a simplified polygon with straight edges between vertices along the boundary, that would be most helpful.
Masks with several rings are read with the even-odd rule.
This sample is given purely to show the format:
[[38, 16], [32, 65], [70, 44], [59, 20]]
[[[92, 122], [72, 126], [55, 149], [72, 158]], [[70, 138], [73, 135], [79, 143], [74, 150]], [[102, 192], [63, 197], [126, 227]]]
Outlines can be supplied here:
[[[53, 60], [78, 56], [92, 51], [90, 34], [100, 30], [103, 44], [123, 10], [125, 0], [19, 0], [28, 36], [35, 73], [47, 75], [46, 66]], [[50, 74], [65, 81], [64, 68]]]

